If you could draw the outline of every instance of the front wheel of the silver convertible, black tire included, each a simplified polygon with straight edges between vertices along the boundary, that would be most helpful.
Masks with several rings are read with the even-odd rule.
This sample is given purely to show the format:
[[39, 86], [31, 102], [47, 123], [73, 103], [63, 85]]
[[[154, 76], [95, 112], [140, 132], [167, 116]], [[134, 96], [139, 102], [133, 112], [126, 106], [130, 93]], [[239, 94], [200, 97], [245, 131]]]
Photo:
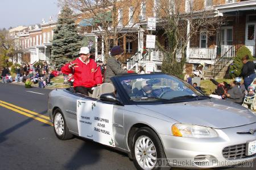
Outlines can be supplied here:
[[139, 128], [134, 134], [132, 146], [133, 162], [137, 169], [166, 169], [169, 166], [167, 161], [163, 164], [166, 155], [158, 135], [151, 128]]

